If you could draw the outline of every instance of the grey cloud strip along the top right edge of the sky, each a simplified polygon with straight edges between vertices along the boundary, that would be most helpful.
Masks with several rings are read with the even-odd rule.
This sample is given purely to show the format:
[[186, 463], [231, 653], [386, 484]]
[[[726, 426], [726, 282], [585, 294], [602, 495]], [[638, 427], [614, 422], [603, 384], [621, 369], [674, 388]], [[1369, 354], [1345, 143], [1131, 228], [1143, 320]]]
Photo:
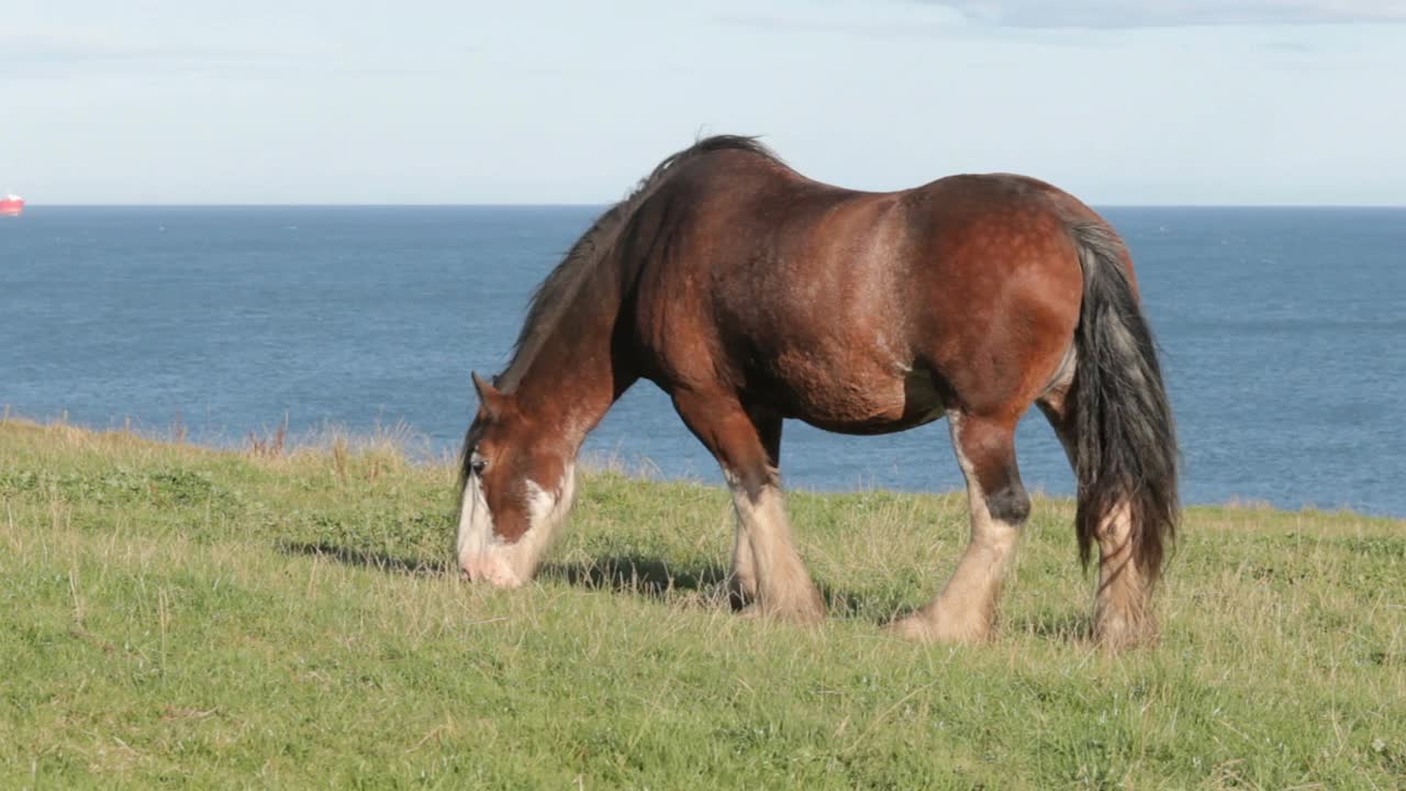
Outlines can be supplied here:
[[1406, 23], [1400, 0], [914, 0], [1018, 28]]

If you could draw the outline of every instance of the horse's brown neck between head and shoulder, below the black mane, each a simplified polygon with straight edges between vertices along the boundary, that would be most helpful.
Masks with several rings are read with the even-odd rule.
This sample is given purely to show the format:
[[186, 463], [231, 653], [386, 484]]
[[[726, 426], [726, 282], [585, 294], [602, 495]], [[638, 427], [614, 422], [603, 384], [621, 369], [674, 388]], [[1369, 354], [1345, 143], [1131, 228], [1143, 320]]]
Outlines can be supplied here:
[[562, 317], [516, 387], [520, 408], [558, 432], [572, 452], [637, 379], [612, 348], [616, 312], [586, 321]]

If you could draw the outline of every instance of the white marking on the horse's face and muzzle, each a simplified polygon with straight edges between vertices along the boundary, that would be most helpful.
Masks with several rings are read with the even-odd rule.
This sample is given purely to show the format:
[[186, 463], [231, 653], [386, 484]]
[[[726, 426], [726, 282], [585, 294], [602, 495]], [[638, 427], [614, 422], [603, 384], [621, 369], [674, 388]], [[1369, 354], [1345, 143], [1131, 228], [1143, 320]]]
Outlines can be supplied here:
[[517, 587], [530, 580], [537, 559], [571, 510], [575, 488], [575, 464], [567, 464], [561, 480], [550, 490], [527, 480], [527, 532], [508, 543], [494, 533], [494, 515], [484, 498], [482, 483], [478, 476], [470, 476], [458, 517], [460, 569], [471, 580], [486, 580], [501, 588]]

